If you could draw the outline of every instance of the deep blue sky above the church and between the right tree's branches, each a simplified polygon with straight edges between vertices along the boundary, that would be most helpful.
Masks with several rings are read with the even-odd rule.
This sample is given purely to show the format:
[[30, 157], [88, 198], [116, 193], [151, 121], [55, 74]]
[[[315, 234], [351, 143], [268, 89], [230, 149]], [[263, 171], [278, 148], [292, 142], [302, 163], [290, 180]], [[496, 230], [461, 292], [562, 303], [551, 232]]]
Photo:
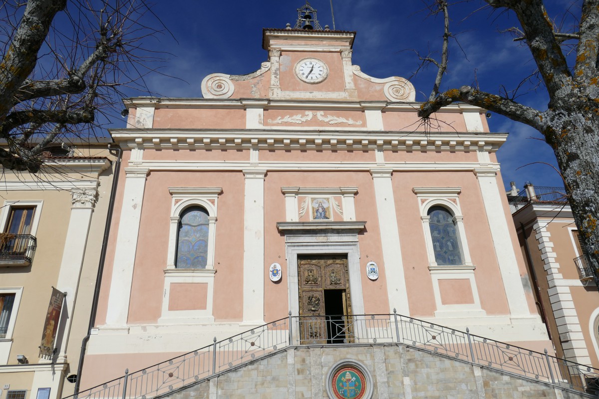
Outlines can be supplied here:
[[[579, 1], [546, 1], [550, 17], [567, 30], [571, 20], [562, 22], [569, 9], [579, 14]], [[146, 78], [153, 94], [167, 97], [201, 97], [200, 84], [205, 75], [248, 74], [267, 59], [262, 50], [262, 28], [285, 28], [294, 25], [302, 0], [259, 0], [220, 2], [170, 0], [152, 7], [172, 35], [161, 34], [148, 39], [147, 48], [168, 51], [165, 75]], [[329, 0], [312, 0], [318, 10], [320, 25], [332, 28]], [[459, 33], [458, 42], [450, 44], [449, 72], [444, 78], [446, 90], [476, 82], [481, 90], [499, 93], [500, 88], [515, 89], [535, 65], [528, 48], [513, 42], [512, 36], [500, 31], [519, 26], [514, 14], [483, 8], [480, 0], [458, 2], [450, 9], [451, 31]], [[384, 78], [397, 75], [410, 78], [418, 68], [413, 51], [426, 54], [441, 46], [443, 20], [427, 17], [420, 0], [333, 0], [335, 28], [356, 31], [353, 63], [366, 74]], [[570, 18], [571, 19], [571, 18]], [[460, 48], [461, 47], [461, 48]], [[463, 52], [462, 52], [463, 50]], [[410, 78], [418, 92], [417, 100], [428, 97], [436, 71], [429, 68]], [[544, 110], [547, 96], [543, 87], [522, 87], [519, 102]], [[131, 93], [144, 95], [144, 93]], [[147, 94], [145, 94], [147, 95]], [[552, 165], [555, 157], [549, 145], [541, 141], [536, 130], [493, 114], [489, 119], [492, 132], [509, 132], [506, 144], [498, 152], [504, 184], [515, 181], [522, 188], [525, 181], [535, 185], [561, 186], [561, 178]], [[549, 165], [546, 165], [549, 164]]]

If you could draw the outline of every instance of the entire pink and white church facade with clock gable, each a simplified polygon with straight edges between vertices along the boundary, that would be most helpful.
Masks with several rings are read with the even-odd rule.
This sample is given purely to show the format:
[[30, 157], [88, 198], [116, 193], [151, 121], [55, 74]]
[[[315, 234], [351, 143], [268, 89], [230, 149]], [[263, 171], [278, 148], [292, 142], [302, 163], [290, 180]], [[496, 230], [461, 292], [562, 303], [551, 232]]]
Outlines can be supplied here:
[[125, 100], [81, 389], [288, 314], [323, 321], [299, 342], [397, 311], [551, 350], [495, 157], [507, 135], [464, 104], [423, 123], [409, 81], [353, 65], [354, 38], [264, 29], [257, 71]]

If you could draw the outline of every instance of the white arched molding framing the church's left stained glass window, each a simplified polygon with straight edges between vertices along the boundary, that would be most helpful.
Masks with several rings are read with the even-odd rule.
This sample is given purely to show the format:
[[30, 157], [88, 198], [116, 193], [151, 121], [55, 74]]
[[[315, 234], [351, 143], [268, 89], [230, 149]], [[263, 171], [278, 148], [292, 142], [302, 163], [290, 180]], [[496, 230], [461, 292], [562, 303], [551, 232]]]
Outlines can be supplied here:
[[214, 246], [216, 237], [217, 200], [222, 188], [169, 188], [173, 196], [168, 240], [167, 269], [176, 269], [179, 221], [186, 209], [193, 206], [208, 212], [208, 251], [206, 269], [214, 269]]

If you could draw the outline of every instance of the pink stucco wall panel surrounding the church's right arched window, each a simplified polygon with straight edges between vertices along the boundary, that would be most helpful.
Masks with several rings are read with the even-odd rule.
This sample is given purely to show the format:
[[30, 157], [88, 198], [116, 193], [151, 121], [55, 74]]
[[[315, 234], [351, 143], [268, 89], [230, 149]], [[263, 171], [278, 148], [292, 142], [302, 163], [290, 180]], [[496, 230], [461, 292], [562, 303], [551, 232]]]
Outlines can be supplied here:
[[488, 315], [506, 315], [506, 293], [491, 230], [485, 214], [479, 184], [474, 173], [468, 172], [394, 172], [397, 223], [404, 257], [404, 270], [408, 287], [410, 312], [415, 316], [432, 316], [432, 279], [428, 270], [428, 257], [418, 198], [413, 187], [461, 187], [459, 205], [464, 216], [464, 229], [470, 255], [476, 270], [480, 304]]

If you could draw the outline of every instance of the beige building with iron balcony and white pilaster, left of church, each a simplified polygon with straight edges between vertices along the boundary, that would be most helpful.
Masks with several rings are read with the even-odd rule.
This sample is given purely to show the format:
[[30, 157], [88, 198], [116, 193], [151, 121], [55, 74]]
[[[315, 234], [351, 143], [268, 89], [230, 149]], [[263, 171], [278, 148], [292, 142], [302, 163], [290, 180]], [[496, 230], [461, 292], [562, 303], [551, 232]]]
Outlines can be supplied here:
[[[117, 153], [110, 142], [59, 145], [49, 148], [37, 175], [2, 174], [2, 399], [60, 398], [73, 391], [66, 377], [77, 374], [87, 334], [113, 184]], [[53, 287], [66, 296], [47, 356], [39, 346]]]

